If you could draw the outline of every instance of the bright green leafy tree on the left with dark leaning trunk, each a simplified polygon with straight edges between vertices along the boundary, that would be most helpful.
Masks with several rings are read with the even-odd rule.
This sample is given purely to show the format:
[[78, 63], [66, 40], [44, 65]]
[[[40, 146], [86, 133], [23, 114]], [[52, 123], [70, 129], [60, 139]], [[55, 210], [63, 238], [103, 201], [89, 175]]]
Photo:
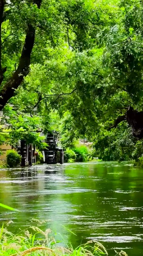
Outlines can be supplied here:
[[[30, 116], [29, 131], [34, 118], [47, 129], [51, 111], [58, 111], [60, 117], [66, 109], [72, 110], [72, 117], [81, 113], [84, 103], [90, 100], [88, 97], [86, 102], [83, 100], [87, 80], [91, 75], [97, 76], [95, 65], [91, 66], [95, 60], [93, 55], [97, 51], [97, 56], [101, 56], [104, 45], [101, 38], [118, 16], [118, 7], [112, 8], [117, 2], [2, 2], [0, 56], [1, 70], [5, 72], [1, 78], [0, 109], [7, 102], [11, 104], [4, 108], [3, 122], [5, 119], [12, 130], [25, 129], [24, 121], [26, 118], [30, 120]], [[101, 75], [97, 78], [100, 79]], [[80, 103], [81, 106], [75, 111]], [[93, 110], [90, 112], [85, 106], [84, 112], [88, 116]], [[82, 124], [84, 121], [83, 116]], [[85, 133], [82, 127], [80, 133]]]

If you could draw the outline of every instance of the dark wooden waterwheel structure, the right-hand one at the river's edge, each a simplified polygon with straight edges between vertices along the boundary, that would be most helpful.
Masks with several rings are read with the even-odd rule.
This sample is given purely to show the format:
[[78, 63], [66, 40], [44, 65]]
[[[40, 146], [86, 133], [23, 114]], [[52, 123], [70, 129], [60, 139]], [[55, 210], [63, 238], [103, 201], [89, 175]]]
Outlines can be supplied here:
[[48, 147], [45, 150], [45, 162], [47, 164], [64, 163], [64, 150], [58, 147], [58, 133], [53, 130], [46, 135]]

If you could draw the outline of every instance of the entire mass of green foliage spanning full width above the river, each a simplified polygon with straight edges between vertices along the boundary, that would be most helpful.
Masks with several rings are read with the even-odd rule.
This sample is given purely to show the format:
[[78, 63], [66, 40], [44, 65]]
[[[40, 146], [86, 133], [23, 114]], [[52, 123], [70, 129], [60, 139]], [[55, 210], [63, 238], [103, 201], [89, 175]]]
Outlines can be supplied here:
[[2, 2], [0, 109], [11, 144], [40, 145], [35, 131], [54, 128], [64, 147], [86, 137], [103, 160], [141, 157], [126, 112], [143, 110], [143, 2]]

